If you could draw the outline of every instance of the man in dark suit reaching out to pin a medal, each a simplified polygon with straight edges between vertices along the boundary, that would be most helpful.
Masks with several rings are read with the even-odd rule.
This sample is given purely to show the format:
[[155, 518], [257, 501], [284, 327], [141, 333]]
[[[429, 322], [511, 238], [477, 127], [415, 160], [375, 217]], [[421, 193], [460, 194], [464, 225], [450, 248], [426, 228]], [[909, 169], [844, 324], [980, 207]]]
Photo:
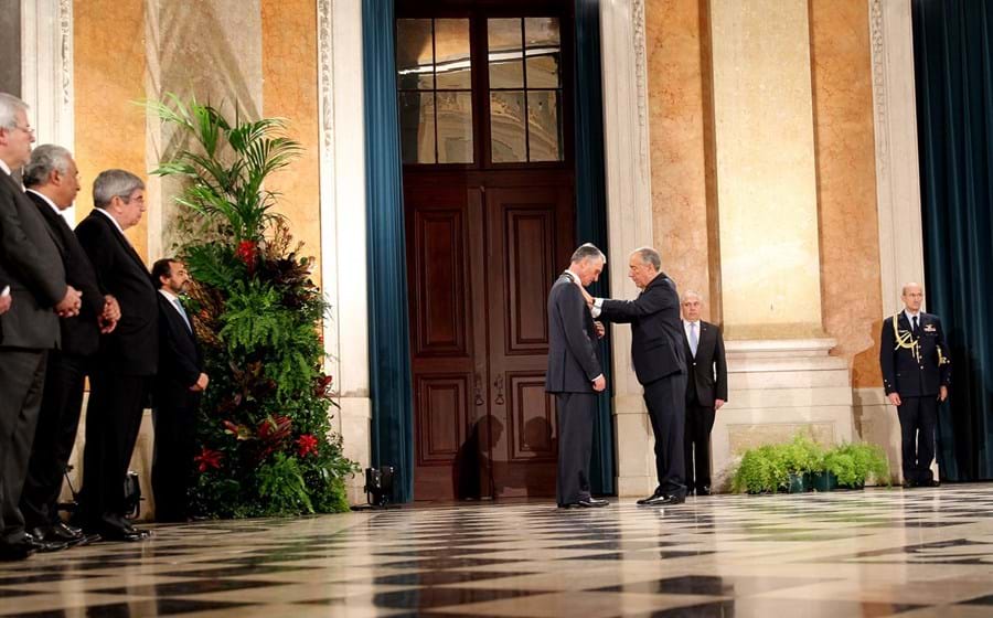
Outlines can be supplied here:
[[587, 296], [594, 318], [631, 324], [634, 374], [644, 387], [659, 486], [639, 504], [679, 504], [686, 499], [683, 482], [683, 430], [686, 422], [686, 362], [675, 284], [662, 273], [662, 258], [650, 247], [634, 251], [628, 276], [641, 289], [634, 300]]

